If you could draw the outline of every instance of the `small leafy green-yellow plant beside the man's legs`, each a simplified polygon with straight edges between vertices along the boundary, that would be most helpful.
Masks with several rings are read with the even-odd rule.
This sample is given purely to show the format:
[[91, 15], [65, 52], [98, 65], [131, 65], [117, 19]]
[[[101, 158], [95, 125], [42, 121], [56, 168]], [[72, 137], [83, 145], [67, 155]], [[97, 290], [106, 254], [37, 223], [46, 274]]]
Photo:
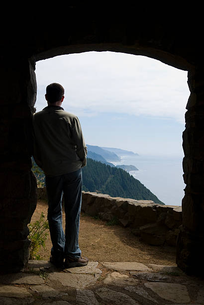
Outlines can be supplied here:
[[38, 250], [40, 247], [45, 249], [45, 241], [48, 236], [47, 229], [49, 229], [48, 221], [45, 220], [43, 212], [40, 215], [40, 219], [36, 220], [34, 223], [28, 225], [30, 234], [28, 238], [31, 240], [29, 250], [30, 250], [30, 260], [39, 260], [40, 255]]

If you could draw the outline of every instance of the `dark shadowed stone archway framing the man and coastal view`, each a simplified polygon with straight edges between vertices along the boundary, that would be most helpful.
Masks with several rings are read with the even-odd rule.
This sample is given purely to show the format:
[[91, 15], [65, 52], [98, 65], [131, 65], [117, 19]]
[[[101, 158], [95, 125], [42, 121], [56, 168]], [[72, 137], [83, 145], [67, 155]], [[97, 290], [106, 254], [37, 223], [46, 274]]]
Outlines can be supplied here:
[[[72, 9], [72, 8], [70, 8]], [[30, 35], [15, 34], [11, 42], [3, 38], [1, 56], [1, 185], [0, 193], [0, 266], [1, 270], [18, 271], [28, 259], [27, 223], [36, 204], [36, 182], [31, 168], [31, 113], [36, 95], [34, 66], [36, 60], [60, 54], [84, 51], [116, 51], [145, 55], [189, 71], [191, 95], [187, 104], [186, 130], [183, 135], [185, 158], [184, 179], [187, 184], [183, 199], [183, 226], [177, 245], [177, 264], [184, 271], [201, 274], [204, 243], [204, 81], [200, 45], [195, 35], [191, 44], [184, 27], [157, 19], [140, 26], [142, 16], [134, 22], [97, 18], [81, 19], [77, 12], [64, 28], [40, 24], [30, 26]], [[37, 18], [35, 19], [37, 22]], [[48, 22], [49, 20], [46, 19]], [[72, 26], [74, 22], [75, 26]], [[85, 23], [83, 23], [85, 22]], [[192, 29], [192, 33], [194, 30]], [[27, 38], [27, 44], [24, 42]], [[195, 42], [195, 43], [194, 43]], [[192, 48], [194, 43], [194, 48]], [[11, 59], [5, 46], [12, 46], [18, 61]]]

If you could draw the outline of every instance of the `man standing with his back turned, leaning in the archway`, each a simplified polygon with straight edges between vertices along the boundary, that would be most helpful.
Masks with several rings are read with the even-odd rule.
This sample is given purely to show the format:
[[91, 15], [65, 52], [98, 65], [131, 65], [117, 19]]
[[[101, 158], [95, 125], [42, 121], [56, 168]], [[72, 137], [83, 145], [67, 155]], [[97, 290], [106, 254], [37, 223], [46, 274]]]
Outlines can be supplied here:
[[[57, 267], [86, 266], [79, 248], [79, 218], [82, 202], [82, 169], [87, 147], [78, 118], [61, 107], [64, 88], [47, 86], [48, 106], [33, 115], [34, 159], [45, 173], [48, 222], [52, 249], [50, 262]], [[62, 194], [65, 206], [65, 234], [62, 228]], [[64, 262], [65, 258], [65, 262]]]

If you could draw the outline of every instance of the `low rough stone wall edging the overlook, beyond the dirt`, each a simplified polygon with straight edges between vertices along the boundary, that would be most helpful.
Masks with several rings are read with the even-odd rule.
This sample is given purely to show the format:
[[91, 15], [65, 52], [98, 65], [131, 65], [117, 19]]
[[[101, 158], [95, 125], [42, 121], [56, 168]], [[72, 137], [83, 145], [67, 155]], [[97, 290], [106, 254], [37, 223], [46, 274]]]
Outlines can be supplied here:
[[[38, 198], [47, 199], [45, 188], [38, 189]], [[134, 235], [150, 245], [176, 246], [182, 224], [181, 206], [159, 205], [151, 200], [110, 197], [106, 194], [84, 192], [82, 211], [105, 221], [116, 220], [130, 227]]]

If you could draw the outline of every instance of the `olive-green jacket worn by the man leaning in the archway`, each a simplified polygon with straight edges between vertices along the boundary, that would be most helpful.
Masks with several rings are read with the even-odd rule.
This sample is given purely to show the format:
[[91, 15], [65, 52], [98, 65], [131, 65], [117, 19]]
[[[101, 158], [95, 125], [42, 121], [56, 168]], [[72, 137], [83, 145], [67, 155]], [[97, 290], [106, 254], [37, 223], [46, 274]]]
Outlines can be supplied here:
[[46, 176], [73, 172], [87, 163], [79, 119], [59, 106], [33, 115], [33, 157]]

